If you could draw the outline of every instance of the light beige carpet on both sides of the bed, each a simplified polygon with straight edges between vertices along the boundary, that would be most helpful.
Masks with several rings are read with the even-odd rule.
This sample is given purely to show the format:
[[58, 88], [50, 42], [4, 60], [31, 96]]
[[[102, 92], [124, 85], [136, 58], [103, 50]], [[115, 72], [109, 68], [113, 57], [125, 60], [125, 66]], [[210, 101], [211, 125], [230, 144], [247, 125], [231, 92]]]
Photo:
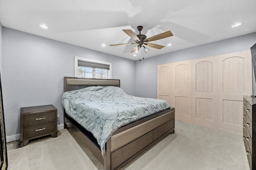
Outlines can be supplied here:
[[[103, 166], [66, 129], [58, 137], [8, 150], [8, 170], [101, 170]], [[169, 135], [126, 170], [250, 170], [242, 136], [176, 121]]]

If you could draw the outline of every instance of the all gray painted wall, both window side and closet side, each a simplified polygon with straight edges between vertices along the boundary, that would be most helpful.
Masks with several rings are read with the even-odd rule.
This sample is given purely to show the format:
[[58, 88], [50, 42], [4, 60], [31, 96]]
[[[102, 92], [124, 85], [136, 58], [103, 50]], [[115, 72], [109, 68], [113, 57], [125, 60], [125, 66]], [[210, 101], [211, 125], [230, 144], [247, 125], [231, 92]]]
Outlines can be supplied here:
[[121, 80], [126, 93], [156, 98], [158, 64], [250, 50], [256, 43], [256, 33], [142, 61], [123, 59], [6, 27], [0, 27], [1, 42], [6, 136], [10, 136], [20, 133], [20, 107], [53, 104], [60, 114], [60, 124], [63, 123], [63, 77], [74, 76], [74, 56], [112, 63], [112, 78]]

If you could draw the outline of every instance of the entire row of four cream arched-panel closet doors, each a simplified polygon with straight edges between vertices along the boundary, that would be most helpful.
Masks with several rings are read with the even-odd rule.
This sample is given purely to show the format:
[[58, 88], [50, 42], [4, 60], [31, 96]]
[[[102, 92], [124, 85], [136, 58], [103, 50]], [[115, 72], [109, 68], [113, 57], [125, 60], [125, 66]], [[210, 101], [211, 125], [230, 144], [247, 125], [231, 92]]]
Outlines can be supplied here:
[[158, 65], [157, 97], [175, 119], [243, 133], [243, 96], [252, 95], [250, 51]]

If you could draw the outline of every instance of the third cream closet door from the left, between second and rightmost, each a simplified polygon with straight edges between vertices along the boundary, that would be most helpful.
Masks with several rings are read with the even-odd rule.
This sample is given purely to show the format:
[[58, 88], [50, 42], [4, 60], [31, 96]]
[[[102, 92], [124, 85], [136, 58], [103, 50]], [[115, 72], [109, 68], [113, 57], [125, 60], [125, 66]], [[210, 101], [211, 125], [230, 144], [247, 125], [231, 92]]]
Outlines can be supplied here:
[[217, 58], [192, 60], [192, 122], [217, 129]]

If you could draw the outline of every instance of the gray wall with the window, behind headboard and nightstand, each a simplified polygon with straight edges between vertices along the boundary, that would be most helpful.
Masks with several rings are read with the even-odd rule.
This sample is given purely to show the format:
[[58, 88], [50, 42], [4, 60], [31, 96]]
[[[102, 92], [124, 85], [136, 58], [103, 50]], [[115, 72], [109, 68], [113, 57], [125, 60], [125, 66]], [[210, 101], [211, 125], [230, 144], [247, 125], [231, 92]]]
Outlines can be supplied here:
[[[63, 77], [74, 56], [112, 63], [112, 78], [135, 95], [135, 61], [2, 27], [2, 90], [6, 136], [20, 133], [20, 107], [53, 104], [63, 123]], [[100, 48], [100, 47], [99, 47]]]

